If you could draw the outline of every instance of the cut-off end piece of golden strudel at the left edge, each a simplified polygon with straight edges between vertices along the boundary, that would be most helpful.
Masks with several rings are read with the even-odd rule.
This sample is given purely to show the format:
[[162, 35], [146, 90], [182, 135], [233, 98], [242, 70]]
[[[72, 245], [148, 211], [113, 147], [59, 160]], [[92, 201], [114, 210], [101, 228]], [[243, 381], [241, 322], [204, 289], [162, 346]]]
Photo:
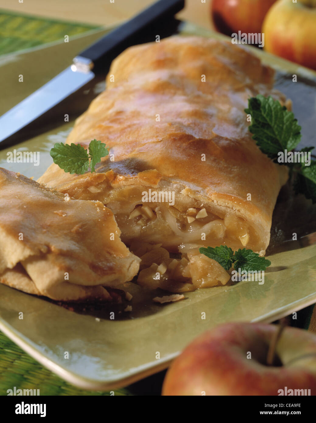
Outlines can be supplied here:
[[2, 168], [0, 197], [0, 282], [56, 300], [110, 299], [103, 286], [137, 274], [140, 260], [102, 203], [67, 200]]

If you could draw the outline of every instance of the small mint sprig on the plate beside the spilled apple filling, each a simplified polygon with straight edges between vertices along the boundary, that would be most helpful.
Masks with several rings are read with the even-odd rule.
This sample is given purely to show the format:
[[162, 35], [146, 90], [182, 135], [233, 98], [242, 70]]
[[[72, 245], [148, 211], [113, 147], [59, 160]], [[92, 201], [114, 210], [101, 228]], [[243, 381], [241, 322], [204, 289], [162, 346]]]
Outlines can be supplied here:
[[254, 253], [253, 250], [246, 250], [246, 248], [242, 250], [239, 248], [234, 253], [227, 245], [220, 245], [220, 247], [215, 248], [201, 247], [199, 252], [216, 260], [226, 271], [233, 264], [235, 269], [246, 270], [247, 272], [265, 270], [271, 264], [271, 261], [267, 260], [267, 258], [259, 257], [258, 253]]

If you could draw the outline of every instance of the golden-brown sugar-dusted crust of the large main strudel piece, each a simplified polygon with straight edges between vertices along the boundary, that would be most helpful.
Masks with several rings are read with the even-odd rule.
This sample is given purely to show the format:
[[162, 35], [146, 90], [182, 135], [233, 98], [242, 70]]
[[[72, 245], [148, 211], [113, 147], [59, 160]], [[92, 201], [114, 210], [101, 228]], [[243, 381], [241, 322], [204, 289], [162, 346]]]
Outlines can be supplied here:
[[[106, 91], [67, 139], [85, 148], [92, 139], [101, 140], [109, 156], [96, 165], [96, 173], [70, 175], [52, 164], [39, 181], [91, 199], [98, 197], [81, 197], [82, 189], [102, 183], [104, 203], [117, 218], [111, 204], [117, 187], [164, 187], [175, 192], [179, 210], [203, 204], [221, 219], [231, 213], [247, 222], [252, 234], [239, 247], [264, 253], [288, 173], [251, 139], [244, 109], [258, 93], [285, 101], [272, 91], [273, 74], [246, 49], [214, 39], [173, 36], [131, 47], [113, 61]], [[209, 245], [216, 242], [206, 239]]]

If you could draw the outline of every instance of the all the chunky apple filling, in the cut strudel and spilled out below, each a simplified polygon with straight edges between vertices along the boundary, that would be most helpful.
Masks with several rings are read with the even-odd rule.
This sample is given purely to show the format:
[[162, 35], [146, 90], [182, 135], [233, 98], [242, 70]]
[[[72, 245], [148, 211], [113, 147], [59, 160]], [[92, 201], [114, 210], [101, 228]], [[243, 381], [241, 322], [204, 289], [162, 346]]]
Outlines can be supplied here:
[[[80, 188], [72, 196], [99, 200], [113, 211], [122, 241], [141, 258], [140, 285], [171, 292], [225, 285], [230, 279], [228, 273], [217, 261], [200, 254], [199, 247], [253, 249], [258, 242], [256, 231], [234, 212], [223, 212], [216, 206], [211, 211], [183, 191], [175, 196], [173, 205], [144, 203], [142, 193], [146, 189], [134, 184], [113, 187], [105, 180]], [[178, 253], [181, 258], [171, 258], [169, 253]]]

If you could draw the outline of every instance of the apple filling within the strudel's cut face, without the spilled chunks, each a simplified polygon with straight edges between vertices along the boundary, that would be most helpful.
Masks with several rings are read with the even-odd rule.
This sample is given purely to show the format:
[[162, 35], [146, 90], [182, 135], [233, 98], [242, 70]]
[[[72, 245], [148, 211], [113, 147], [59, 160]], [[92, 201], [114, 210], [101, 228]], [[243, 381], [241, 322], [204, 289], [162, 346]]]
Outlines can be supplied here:
[[137, 238], [142, 242], [162, 243], [168, 250], [178, 252], [181, 244], [198, 243], [211, 247], [228, 244], [235, 249], [246, 246], [253, 249], [258, 241], [253, 228], [232, 212], [217, 211], [215, 214], [182, 193], [176, 196], [178, 202], [172, 206], [143, 203], [145, 189], [135, 185], [113, 188], [105, 180], [96, 186], [77, 189], [71, 195], [80, 200], [98, 200], [109, 207], [126, 244]]

